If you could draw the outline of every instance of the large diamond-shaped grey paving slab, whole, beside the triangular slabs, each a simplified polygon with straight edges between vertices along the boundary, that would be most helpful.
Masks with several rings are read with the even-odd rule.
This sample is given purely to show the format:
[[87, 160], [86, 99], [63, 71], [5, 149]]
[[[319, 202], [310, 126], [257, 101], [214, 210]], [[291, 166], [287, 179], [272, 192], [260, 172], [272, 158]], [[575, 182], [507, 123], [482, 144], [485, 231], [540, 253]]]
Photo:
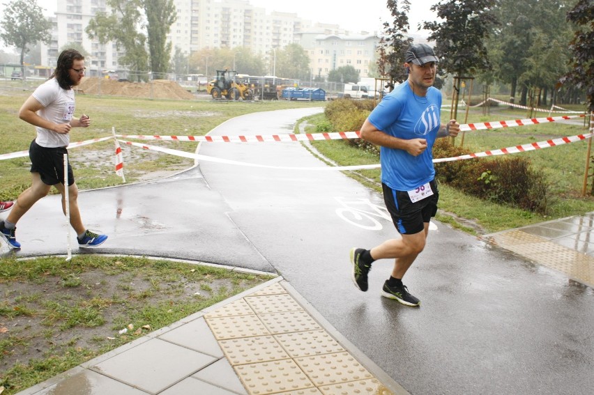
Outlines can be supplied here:
[[211, 355], [160, 339], [151, 339], [91, 366], [91, 369], [156, 394], [169, 387], [172, 382], [183, 380], [215, 360]]

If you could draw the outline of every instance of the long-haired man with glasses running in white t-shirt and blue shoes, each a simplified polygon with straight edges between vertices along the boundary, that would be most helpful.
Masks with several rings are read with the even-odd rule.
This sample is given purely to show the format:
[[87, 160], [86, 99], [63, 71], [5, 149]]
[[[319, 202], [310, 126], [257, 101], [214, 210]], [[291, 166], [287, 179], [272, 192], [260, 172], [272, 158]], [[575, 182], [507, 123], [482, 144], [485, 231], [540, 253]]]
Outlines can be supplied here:
[[[51, 187], [62, 195], [62, 211], [66, 214], [63, 155], [68, 153], [70, 129], [89, 127], [91, 119], [82, 115], [74, 118], [75, 93], [73, 86], [84, 77], [84, 56], [75, 49], [66, 49], [58, 57], [52, 77], [38, 86], [24, 102], [19, 118], [36, 126], [37, 137], [29, 146], [31, 158], [31, 187], [19, 195], [10, 214], [0, 222], [0, 236], [13, 249], [21, 247], [15, 237], [18, 220], [39, 199], [47, 196]], [[78, 188], [73, 169], [68, 163], [68, 208], [70, 225], [77, 233], [79, 247], [96, 247], [107, 235], [93, 233], [82, 224], [78, 208]]]

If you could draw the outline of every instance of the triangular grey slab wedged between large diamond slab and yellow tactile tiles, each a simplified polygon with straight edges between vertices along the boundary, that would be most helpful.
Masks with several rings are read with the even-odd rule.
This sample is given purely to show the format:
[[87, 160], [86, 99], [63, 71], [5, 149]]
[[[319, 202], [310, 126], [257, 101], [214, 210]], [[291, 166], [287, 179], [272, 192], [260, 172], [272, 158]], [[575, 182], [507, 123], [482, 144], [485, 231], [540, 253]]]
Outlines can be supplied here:
[[223, 357], [223, 352], [219, 347], [217, 339], [215, 339], [211, 328], [208, 327], [204, 318], [197, 318], [190, 323], [181, 325], [181, 327], [165, 332], [158, 339], [196, 350], [199, 353], [212, 355], [213, 357]]

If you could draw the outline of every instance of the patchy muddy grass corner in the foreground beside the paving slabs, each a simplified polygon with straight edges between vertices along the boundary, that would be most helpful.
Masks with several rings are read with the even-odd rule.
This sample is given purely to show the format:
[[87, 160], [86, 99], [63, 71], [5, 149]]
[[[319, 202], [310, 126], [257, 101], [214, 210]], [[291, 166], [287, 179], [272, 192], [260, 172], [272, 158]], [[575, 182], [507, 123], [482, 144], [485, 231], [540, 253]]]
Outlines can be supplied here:
[[2, 394], [20, 392], [271, 278], [165, 259], [3, 258]]

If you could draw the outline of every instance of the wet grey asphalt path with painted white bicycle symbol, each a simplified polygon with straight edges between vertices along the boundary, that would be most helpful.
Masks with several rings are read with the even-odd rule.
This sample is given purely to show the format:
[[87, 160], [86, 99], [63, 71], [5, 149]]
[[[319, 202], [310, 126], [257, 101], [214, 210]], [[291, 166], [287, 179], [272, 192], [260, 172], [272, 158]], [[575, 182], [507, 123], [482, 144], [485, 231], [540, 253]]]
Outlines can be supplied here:
[[[250, 114], [211, 134], [290, 133], [296, 119], [316, 111]], [[202, 144], [199, 153], [325, 166], [299, 143]], [[65, 254], [66, 225], [54, 198], [20, 222], [19, 255]], [[349, 249], [397, 235], [373, 206], [383, 206], [381, 196], [343, 173], [201, 161], [173, 178], [83, 192], [80, 199], [86, 224], [110, 235], [93, 252], [278, 272], [411, 394], [591, 394], [594, 388], [593, 290], [446, 225], [435, 223], [404, 279], [420, 308], [379, 296], [390, 261], [374, 263], [370, 291], [358, 291]]]

